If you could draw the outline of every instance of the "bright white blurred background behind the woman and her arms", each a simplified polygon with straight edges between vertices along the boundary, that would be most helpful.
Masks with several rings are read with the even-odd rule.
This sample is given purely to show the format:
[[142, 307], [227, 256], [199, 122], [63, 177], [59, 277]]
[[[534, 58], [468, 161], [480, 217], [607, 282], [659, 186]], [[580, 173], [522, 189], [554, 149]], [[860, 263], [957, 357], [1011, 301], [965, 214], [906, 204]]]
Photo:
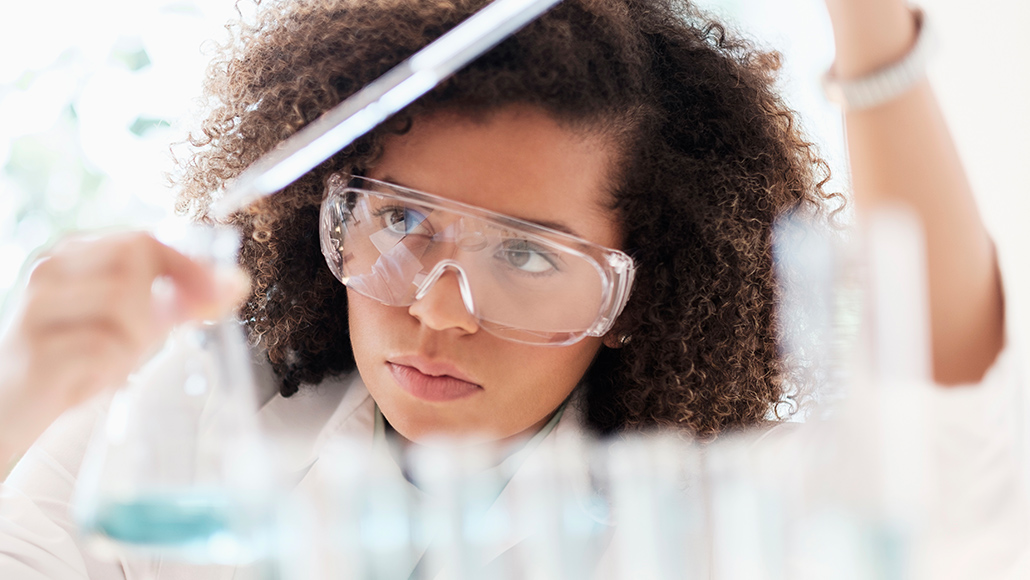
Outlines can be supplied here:
[[[374, 1], [374, 0], [370, 0]], [[783, 53], [782, 89], [847, 190], [839, 111], [819, 77], [833, 59], [820, 0], [700, 0]], [[1030, 4], [922, 0], [940, 38], [931, 77], [997, 241], [1010, 296], [1030, 297]], [[0, 18], [0, 305], [31, 257], [65, 232], [152, 227], [171, 213], [169, 145], [233, 0], [8, 2]], [[1021, 300], [1022, 299], [1022, 300]], [[1030, 336], [1030, 308], [1014, 312]], [[1030, 353], [1030, 351], [1028, 351]]]

